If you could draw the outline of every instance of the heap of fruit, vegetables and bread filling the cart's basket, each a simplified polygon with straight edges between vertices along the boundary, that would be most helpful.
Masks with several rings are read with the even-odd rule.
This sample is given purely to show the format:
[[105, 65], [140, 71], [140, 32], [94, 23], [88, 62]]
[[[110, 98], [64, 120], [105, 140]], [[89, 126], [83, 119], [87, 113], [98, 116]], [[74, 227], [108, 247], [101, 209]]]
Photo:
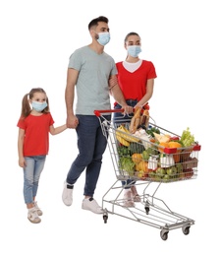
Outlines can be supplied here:
[[135, 112], [131, 122], [115, 128], [121, 175], [127, 178], [172, 182], [195, 178], [200, 146], [190, 128], [181, 136], [149, 122], [148, 110]]

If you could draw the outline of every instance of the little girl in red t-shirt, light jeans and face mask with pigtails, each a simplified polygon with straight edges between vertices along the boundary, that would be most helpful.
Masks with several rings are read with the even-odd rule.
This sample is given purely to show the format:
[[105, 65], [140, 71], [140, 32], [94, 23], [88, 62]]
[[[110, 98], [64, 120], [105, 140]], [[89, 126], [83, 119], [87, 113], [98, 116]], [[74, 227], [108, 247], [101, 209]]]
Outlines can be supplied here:
[[[30, 107], [31, 105], [31, 107]], [[49, 101], [41, 88], [34, 88], [23, 97], [19, 127], [19, 165], [24, 169], [24, 198], [27, 204], [27, 219], [39, 224], [42, 211], [35, 201], [40, 174], [49, 151], [49, 132], [59, 134], [67, 129], [66, 124], [54, 128], [49, 111]]]

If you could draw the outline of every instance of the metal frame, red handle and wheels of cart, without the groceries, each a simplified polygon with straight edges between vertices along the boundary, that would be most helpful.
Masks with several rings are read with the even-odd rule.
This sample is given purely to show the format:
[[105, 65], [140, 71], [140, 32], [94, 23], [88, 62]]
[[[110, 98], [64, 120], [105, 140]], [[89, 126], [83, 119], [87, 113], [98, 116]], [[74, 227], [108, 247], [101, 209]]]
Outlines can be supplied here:
[[[192, 180], [197, 176], [197, 161], [196, 164], [192, 165], [193, 175], [190, 177], [178, 177], [171, 179], [169, 181], [155, 180], [149, 177], [139, 178], [138, 176], [133, 176], [133, 180], [136, 180], [136, 186], [142, 188], [142, 192], [139, 193], [140, 202], [136, 203], [133, 208], [128, 208], [123, 205], [124, 199], [122, 193], [124, 191], [124, 186], [122, 185], [122, 180], [127, 180], [130, 176], [125, 173], [119, 164], [119, 156], [117, 152], [117, 139], [116, 131], [117, 127], [113, 125], [112, 121], [109, 122], [105, 119], [105, 113], [122, 112], [122, 110], [95, 110], [95, 115], [99, 118], [102, 127], [103, 135], [107, 139], [107, 145], [110, 152], [110, 157], [113, 163], [115, 174], [117, 180], [113, 185], [106, 191], [102, 197], [102, 209], [104, 223], [107, 223], [108, 215], [117, 215], [128, 220], [138, 222], [140, 224], [147, 224], [160, 229], [160, 237], [163, 240], [167, 240], [168, 233], [172, 229], [182, 228], [184, 234], [190, 233], [190, 227], [194, 224], [194, 221], [188, 217], [177, 214], [173, 212], [167, 204], [162, 200], [157, 198], [156, 192], [164, 182], [176, 182], [182, 180]], [[104, 121], [103, 121], [104, 119]], [[123, 120], [125, 122], [125, 120]], [[168, 130], [163, 129], [153, 123], [149, 123], [151, 126], [155, 126], [162, 130], [164, 133], [170, 133], [173, 136], [180, 137], [177, 134], [171, 133]], [[152, 143], [153, 144], [153, 143]], [[192, 157], [198, 160], [198, 152], [200, 151], [200, 146], [195, 143], [192, 149]], [[173, 152], [171, 152], [171, 155]], [[169, 154], [168, 154], [169, 155]], [[190, 164], [188, 161], [185, 164]], [[150, 195], [147, 193], [150, 187], [153, 188], [153, 192]], [[140, 189], [139, 189], [140, 190]]]

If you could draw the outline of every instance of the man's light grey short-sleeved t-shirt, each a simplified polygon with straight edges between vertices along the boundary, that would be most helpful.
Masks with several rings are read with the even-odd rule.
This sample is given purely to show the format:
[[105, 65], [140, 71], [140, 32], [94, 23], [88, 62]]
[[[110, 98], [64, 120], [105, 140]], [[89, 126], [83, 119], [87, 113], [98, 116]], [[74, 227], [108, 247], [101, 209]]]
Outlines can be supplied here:
[[111, 56], [105, 52], [97, 54], [89, 46], [83, 46], [71, 55], [68, 67], [80, 71], [76, 114], [93, 115], [95, 109], [111, 109], [108, 81], [117, 74]]

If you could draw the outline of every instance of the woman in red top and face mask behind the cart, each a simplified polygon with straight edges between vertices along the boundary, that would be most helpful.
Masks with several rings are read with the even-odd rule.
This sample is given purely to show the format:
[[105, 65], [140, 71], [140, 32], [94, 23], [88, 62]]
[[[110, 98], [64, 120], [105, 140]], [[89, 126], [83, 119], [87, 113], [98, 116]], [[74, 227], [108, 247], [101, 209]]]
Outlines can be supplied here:
[[[116, 63], [118, 70], [118, 83], [125, 96], [127, 103], [134, 108], [145, 108], [148, 100], [153, 95], [154, 79], [157, 77], [154, 65], [151, 61], [142, 60], [138, 57], [141, 52], [140, 37], [137, 32], [130, 32], [125, 37], [127, 50], [126, 60]], [[111, 82], [110, 82], [111, 83]], [[118, 102], [114, 103], [115, 109], [120, 109]], [[121, 122], [122, 118], [130, 118], [122, 113], [114, 113], [114, 122]], [[124, 206], [134, 207], [134, 202], [139, 202], [135, 181], [122, 181], [125, 188]]]

